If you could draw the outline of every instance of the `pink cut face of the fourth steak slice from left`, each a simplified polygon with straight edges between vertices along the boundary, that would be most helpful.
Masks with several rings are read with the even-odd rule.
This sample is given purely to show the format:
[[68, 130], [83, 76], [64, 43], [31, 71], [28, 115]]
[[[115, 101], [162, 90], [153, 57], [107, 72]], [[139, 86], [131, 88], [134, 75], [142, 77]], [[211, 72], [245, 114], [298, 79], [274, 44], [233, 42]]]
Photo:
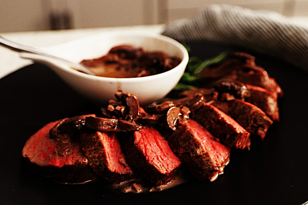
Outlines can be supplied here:
[[225, 160], [229, 158], [230, 149], [216, 142], [213, 135], [196, 121], [189, 120], [185, 126], [187, 130], [194, 133], [195, 137], [200, 139], [202, 142], [201, 146], [203, 146], [202, 150], [210, 153], [210, 157], [216, 163], [216, 166], [222, 166]]

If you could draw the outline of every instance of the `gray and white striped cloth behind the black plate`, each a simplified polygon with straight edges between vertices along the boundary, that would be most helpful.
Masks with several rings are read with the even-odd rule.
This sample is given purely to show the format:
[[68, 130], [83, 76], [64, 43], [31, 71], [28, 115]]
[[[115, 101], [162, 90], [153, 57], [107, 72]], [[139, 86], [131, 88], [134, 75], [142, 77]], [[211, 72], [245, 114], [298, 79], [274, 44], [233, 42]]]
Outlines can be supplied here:
[[308, 71], [308, 26], [275, 12], [213, 4], [191, 19], [169, 23], [162, 34], [179, 41], [241, 46]]

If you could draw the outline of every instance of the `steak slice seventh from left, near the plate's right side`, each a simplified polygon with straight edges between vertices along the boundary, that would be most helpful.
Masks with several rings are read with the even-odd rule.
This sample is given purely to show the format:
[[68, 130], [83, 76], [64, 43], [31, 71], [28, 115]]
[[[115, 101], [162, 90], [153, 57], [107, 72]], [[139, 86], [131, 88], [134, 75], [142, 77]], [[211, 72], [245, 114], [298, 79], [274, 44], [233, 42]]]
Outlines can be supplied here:
[[266, 115], [270, 116], [272, 120], [279, 121], [277, 93], [253, 85], [246, 85], [246, 87], [249, 90], [250, 96], [245, 101], [259, 107]]

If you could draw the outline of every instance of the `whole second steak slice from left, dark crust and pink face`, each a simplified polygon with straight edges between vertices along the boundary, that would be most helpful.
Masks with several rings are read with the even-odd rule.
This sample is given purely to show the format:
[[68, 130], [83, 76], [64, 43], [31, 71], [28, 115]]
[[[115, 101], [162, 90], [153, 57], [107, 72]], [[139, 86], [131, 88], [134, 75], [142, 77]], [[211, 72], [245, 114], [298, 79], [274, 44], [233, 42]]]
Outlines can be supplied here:
[[113, 183], [134, 177], [132, 169], [126, 164], [115, 132], [87, 130], [80, 135], [80, 140], [83, 153], [97, 175]]

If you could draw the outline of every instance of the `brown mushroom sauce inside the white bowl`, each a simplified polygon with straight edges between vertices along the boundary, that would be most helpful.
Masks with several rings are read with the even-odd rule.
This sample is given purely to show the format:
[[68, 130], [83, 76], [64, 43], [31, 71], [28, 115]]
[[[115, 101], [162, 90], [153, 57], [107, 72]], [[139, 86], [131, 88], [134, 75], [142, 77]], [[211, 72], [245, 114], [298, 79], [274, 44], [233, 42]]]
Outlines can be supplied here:
[[130, 45], [119, 45], [99, 58], [83, 60], [97, 76], [131, 78], [164, 73], [179, 65], [181, 59], [161, 51], [144, 51]]

